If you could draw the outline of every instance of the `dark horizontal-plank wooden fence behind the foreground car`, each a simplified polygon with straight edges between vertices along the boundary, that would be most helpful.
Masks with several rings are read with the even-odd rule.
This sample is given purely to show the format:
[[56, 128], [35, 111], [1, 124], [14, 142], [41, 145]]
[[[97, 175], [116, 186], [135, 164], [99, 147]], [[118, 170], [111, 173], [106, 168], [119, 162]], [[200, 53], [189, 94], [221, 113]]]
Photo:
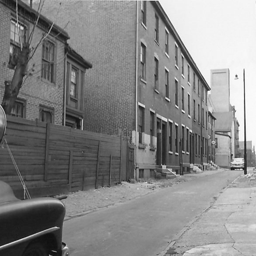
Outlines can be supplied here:
[[[81, 131], [7, 117], [5, 138], [32, 197], [104, 187], [121, 182], [121, 135]], [[126, 159], [123, 159], [126, 161]], [[126, 165], [123, 165], [126, 166]], [[7, 146], [0, 148], [0, 180], [18, 197], [23, 188]]]

